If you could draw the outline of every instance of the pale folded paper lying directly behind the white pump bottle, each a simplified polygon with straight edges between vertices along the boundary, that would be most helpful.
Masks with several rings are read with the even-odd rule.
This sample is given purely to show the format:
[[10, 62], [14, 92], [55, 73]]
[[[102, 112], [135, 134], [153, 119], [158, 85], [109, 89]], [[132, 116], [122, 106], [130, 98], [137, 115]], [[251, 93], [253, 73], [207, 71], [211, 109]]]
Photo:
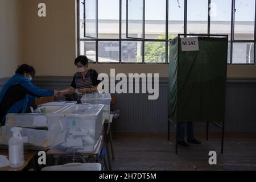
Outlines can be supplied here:
[[[7, 125], [3, 127], [5, 132], [0, 138], [0, 148], [5, 149], [8, 147], [9, 139], [13, 137], [12, 127], [14, 126]], [[47, 150], [49, 148], [47, 130], [22, 128], [20, 134], [22, 135], [25, 150]]]

